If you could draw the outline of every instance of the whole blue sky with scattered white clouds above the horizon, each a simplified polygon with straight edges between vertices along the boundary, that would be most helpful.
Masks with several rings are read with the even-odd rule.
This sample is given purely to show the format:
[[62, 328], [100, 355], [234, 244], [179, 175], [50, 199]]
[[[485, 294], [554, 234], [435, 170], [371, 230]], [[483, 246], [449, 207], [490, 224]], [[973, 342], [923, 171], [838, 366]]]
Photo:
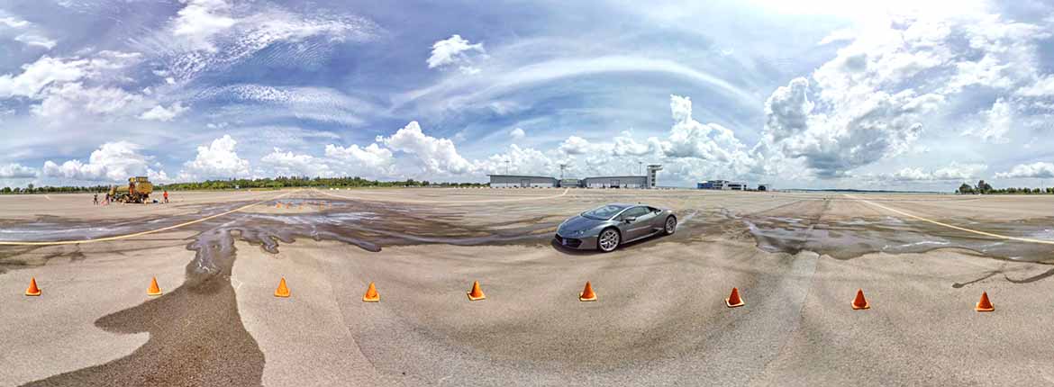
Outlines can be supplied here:
[[1054, 185], [1052, 26], [1040, 1], [0, 1], [0, 185]]

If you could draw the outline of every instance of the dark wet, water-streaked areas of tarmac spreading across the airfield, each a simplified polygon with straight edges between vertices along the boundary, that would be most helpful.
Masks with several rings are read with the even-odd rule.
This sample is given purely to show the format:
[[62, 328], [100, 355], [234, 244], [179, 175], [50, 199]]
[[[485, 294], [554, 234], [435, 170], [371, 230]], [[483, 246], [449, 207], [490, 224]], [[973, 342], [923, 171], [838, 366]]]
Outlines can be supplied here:
[[[119, 236], [180, 224], [250, 203], [203, 205], [196, 208], [196, 213], [145, 220], [85, 221], [39, 217], [30, 222], [5, 221], [0, 223], [0, 240], [58, 241]], [[753, 239], [758, 248], [769, 252], [814, 251], [839, 260], [874, 252], [896, 254], [961, 249], [978, 258], [1054, 263], [1054, 246], [1011, 244], [890, 216], [828, 219], [825, 213], [832, 203], [800, 200], [753, 212], [727, 208], [675, 208], [681, 217], [676, 235], [646, 239], [624, 248], [657, 241], [688, 243], [731, 238]], [[533, 216], [513, 220], [494, 217], [493, 221], [481, 221], [480, 217], [486, 213], [477, 213], [483, 211], [473, 209], [471, 204], [429, 206], [310, 195], [267, 202], [258, 207], [187, 226], [194, 237], [187, 241], [186, 248], [195, 251], [193, 261], [186, 267], [187, 282], [160, 298], [103, 317], [95, 323], [112, 332], [149, 332], [150, 341], [145, 345], [110, 363], [30, 385], [261, 385], [264, 355], [241, 324], [231, 285], [231, 271], [237, 257], [236, 241], [259, 246], [269, 253], [278, 253], [282, 244], [300, 239], [338, 241], [372, 252], [387, 246], [417, 244], [546, 245], [563, 217], [560, 213], [539, 215], [546, 211], [544, 206], [524, 204], [516, 211]], [[1054, 219], [1050, 218], [983, 225], [965, 218], [945, 221], [1008, 236], [1054, 238]], [[23, 259], [39, 248], [0, 246], [0, 272], [42, 264], [54, 258], [76, 260], [78, 254], [83, 257], [79, 247], [73, 245], [53, 248], [54, 253], [34, 261]], [[582, 253], [554, 248], [568, 254]], [[999, 273], [988, 276], [996, 274]], [[1032, 278], [1008, 278], [1008, 281], [1028, 283], [1050, 277], [1054, 277], [1054, 269]], [[659, 340], [661, 338], [649, 338], [649, 341]], [[201, 357], [202, 353], [208, 357]], [[171, 359], [184, 361], [167, 362]]]

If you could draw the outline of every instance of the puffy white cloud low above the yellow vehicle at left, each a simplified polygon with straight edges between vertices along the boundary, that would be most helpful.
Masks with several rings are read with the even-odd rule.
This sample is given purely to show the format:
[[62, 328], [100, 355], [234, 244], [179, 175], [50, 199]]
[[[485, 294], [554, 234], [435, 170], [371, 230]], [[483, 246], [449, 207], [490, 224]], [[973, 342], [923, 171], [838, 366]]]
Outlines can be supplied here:
[[57, 164], [44, 162], [43, 176], [78, 181], [123, 181], [133, 176], [164, 177], [150, 168], [154, 158], [142, 155], [142, 147], [128, 141], [108, 142], [92, 152], [87, 163], [69, 160]]

